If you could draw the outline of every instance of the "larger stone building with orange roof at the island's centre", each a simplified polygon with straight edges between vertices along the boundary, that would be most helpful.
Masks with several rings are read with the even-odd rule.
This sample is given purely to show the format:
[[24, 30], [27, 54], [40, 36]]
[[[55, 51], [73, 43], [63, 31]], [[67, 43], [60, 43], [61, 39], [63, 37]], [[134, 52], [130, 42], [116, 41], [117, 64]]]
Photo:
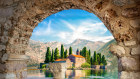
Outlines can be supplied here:
[[71, 62], [73, 62], [75, 67], [81, 67], [81, 65], [86, 62], [85, 57], [81, 55], [72, 54], [68, 56], [68, 58], [71, 60]]

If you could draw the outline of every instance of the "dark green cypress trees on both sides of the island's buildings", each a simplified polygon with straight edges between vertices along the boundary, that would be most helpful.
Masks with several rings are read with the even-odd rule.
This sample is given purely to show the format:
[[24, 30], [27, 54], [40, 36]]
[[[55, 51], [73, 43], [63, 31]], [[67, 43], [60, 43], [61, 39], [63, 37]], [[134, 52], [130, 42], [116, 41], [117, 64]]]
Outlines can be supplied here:
[[[64, 46], [63, 45], [61, 45], [61, 51], [60, 52], [61, 53], [59, 54], [59, 50], [58, 50], [58, 48], [56, 48], [55, 51], [53, 51], [53, 49], [52, 49], [52, 53], [51, 53], [50, 47], [47, 47], [44, 62], [49, 63], [49, 62], [54, 62], [56, 59], [59, 59], [59, 58], [62, 58], [62, 59], [67, 58], [68, 51], [67, 51], [67, 49], [64, 51]], [[71, 54], [72, 54], [72, 47], [70, 46], [69, 55], [71, 55]], [[96, 51], [94, 51], [94, 55], [91, 56], [90, 49], [87, 50], [86, 47], [84, 47], [82, 50], [80, 50], [80, 55], [85, 57], [86, 62], [90, 65], [107, 65], [107, 61], [106, 61], [104, 55], [101, 55], [101, 53], [97, 53]], [[84, 64], [84, 65], [87, 65], [87, 63]]]

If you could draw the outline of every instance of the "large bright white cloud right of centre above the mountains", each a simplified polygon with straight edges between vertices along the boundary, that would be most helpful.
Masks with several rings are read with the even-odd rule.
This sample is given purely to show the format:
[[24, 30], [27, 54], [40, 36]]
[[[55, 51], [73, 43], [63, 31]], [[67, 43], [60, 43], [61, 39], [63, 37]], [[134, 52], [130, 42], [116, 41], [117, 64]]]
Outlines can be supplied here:
[[[72, 30], [72, 32], [59, 32], [57, 36], [61, 40], [66, 40], [65, 43], [71, 43], [75, 39], [86, 39], [91, 41], [103, 41], [108, 42], [113, 39], [113, 36], [100, 36], [107, 32], [107, 28], [104, 27], [103, 23], [94, 23], [92, 21], [82, 21], [80, 25], [74, 26], [67, 21], [61, 20], [66, 27]], [[95, 32], [97, 35], [92, 35]], [[98, 35], [99, 34], [99, 35]]]

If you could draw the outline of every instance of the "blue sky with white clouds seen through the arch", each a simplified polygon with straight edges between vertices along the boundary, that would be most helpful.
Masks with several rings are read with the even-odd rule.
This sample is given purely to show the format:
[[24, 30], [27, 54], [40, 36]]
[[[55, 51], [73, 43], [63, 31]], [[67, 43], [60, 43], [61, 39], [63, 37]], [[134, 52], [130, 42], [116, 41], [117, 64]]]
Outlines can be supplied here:
[[52, 14], [40, 22], [33, 30], [30, 39], [69, 44], [76, 39], [108, 42], [114, 37], [93, 13], [69, 9]]

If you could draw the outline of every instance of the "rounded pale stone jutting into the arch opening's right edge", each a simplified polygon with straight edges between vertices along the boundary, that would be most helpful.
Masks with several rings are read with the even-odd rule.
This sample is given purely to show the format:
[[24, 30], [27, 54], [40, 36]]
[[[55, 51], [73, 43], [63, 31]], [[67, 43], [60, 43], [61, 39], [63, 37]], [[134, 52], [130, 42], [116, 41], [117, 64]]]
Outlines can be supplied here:
[[113, 54], [116, 54], [119, 57], [125, 55], [125, 49], [122, 46], [119, 46], [119, 45], [111, 45], [110, 51]]

